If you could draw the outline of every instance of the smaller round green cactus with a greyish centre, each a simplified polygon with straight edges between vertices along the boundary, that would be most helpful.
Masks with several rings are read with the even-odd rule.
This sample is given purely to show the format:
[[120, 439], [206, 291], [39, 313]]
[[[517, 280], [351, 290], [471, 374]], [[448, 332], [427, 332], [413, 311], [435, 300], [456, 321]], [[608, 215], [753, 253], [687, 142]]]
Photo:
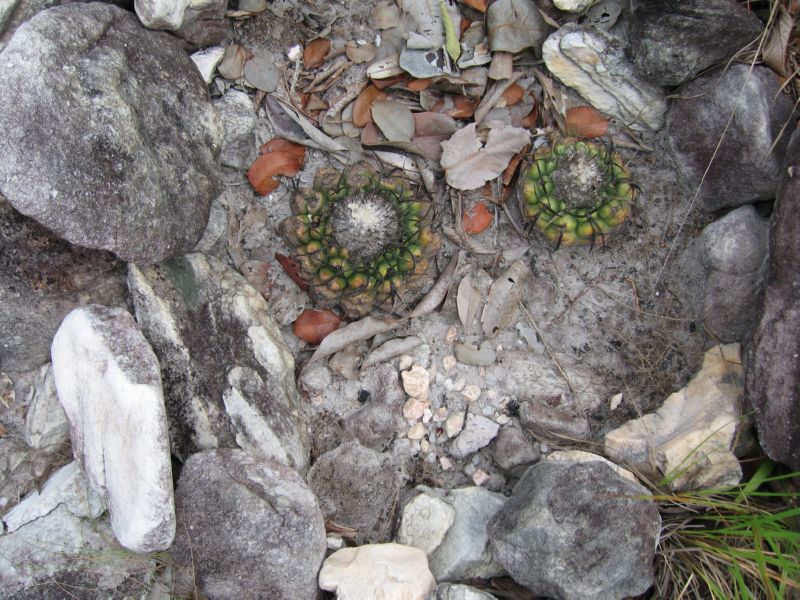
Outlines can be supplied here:
[[522, 179], [523, 213], [558, 246], [602, 246], [636, 196], [622, 158], [572, 138], [539, 149]]

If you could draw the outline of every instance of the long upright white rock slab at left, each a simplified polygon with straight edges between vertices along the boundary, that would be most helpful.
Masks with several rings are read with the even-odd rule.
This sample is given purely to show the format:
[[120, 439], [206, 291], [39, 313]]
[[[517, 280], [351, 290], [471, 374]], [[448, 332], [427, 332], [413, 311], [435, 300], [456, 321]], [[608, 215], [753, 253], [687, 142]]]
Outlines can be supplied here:
[[167, 419], [158, 359], [122, 309], [72, 311], [53, 339], [53, 377], [75, 460], [134, 552], [175, 535]]

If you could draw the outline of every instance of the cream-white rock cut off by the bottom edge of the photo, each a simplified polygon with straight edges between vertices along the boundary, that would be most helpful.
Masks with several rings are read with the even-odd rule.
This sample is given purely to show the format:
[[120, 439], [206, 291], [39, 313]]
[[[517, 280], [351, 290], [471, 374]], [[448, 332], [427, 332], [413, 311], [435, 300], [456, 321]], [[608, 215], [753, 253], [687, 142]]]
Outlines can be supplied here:
[[367, 544], [331, 554], [319, 587], [336, 600], [426, 600], [436, 589], [425, 553], [401, 544]]

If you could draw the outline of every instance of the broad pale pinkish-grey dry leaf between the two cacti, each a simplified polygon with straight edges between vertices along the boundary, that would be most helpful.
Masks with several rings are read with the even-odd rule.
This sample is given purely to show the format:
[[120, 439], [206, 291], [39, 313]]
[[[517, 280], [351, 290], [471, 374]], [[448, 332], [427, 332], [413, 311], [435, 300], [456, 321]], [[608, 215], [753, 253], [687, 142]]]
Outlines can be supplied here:
[[457, 190], [475, 190], [499, 176], [511, 158], [530, 140], [530, 133], [518, 127], [493, 127], [484, 147], [475, 123], [456, 131], [442, 142], [441, 165], [448, 185]]

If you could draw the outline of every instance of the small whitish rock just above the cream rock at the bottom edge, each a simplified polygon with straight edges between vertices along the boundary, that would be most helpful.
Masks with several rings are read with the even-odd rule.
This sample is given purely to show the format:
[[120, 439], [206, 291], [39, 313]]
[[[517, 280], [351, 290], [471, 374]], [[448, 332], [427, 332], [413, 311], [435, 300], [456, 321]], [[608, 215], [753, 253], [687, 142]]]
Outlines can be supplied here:
[[456, 511], [450, 504], [423, 492], [403, 507], [397, 541], [430, 556], [444, 540], [455, 518]]

